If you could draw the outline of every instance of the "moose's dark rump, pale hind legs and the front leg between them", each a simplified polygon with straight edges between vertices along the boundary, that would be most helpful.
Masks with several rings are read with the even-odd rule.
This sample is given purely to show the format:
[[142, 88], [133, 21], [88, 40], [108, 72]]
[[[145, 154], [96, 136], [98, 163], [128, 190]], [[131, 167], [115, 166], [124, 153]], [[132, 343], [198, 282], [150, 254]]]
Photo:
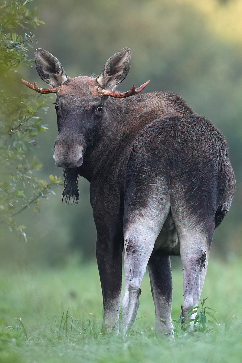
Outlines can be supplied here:
[[196, 115], [158, 119], [136, 138], [127, 164], [124, 200], [126, 326], [134, 322], [148, 265], [156, 330], [169, 334], [170, 255], [180, 254], [182, 260], [181, 317], [198, 305], [214, 228], [233, 198], [234, 175], [223, 163], [225, 150], [218, 130]]

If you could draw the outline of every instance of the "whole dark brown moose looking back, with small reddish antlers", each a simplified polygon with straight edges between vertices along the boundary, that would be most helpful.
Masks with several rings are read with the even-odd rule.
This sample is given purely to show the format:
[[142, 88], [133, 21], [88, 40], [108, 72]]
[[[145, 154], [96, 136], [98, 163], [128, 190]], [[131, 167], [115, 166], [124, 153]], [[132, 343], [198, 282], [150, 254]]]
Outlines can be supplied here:
[[129, 48], [109, 58], [97, 77], [68, 77], [43, 49], [35, 51], [35, 62], [52, 88], [22, 82], [39, 93], [57, 94], [53, 158], [64, 169], [62, 200], [78, 202], [79, 176], [90, 182], [103, 329], [119, 331], [124, 250], [123, 333], [129, 334], [135, 321], [148, 266], [156, 332], [172, 336], [170, 256], [181, 256], [186, 321], [199, 303], [214, 229], [235, 191], [226, 140], [179, 96], [140, 94], [149, 81], [114, 91], [129, 72]]

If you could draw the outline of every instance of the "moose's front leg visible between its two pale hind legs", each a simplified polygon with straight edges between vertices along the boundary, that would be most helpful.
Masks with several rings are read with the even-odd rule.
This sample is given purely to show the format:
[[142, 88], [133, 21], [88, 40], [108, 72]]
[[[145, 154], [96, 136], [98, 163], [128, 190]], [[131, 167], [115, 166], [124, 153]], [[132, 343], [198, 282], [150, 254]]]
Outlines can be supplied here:
[[148, 262], [148, 270], [155, 304], [156, 333], [173, 335], [170, 256], [160, 251], [154, 251]]

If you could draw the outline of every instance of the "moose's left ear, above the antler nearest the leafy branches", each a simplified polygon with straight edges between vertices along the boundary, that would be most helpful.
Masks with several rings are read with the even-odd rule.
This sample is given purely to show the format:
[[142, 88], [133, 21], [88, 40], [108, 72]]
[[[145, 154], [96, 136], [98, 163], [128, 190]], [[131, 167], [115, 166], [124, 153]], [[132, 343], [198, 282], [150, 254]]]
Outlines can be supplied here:
[[34, 52], [35, 65], [39, 76], [52, 87], [61, 86], [68, 77], [58, 59], [44, 49]]

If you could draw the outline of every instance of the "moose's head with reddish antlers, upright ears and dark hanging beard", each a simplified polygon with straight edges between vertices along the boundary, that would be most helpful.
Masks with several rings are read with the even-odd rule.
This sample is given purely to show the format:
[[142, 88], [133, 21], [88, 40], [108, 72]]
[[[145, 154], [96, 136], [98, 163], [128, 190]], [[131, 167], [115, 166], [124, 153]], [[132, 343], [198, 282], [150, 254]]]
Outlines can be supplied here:
[[[36, 69], [39, 76], [53, 88], [38, 88], [24, 81], [30, 89], [38, 93], [56, 93], [54, 103], [57, 114], [58, 136], [54, 145], [56, 166], [64, 168], [66, 200], [78, 201], [78, 169], [83, 163], [83, 155], [90, 153], [93, 143], [102, 129], [103, 119], [111, 114], [107, 106], [109, 97], [126, 98], [141, 92], [149, 81], [130, 91], [113, 91], [130, 70], [131, 50], [123, 48], [109, 58], [98, 77], [68, 77], [60, 61], [44, 49], [36, 49]], [[105, 111], [104, 111], [105, 110]], [[112, 112], [111, 112], [112, 113]]]

